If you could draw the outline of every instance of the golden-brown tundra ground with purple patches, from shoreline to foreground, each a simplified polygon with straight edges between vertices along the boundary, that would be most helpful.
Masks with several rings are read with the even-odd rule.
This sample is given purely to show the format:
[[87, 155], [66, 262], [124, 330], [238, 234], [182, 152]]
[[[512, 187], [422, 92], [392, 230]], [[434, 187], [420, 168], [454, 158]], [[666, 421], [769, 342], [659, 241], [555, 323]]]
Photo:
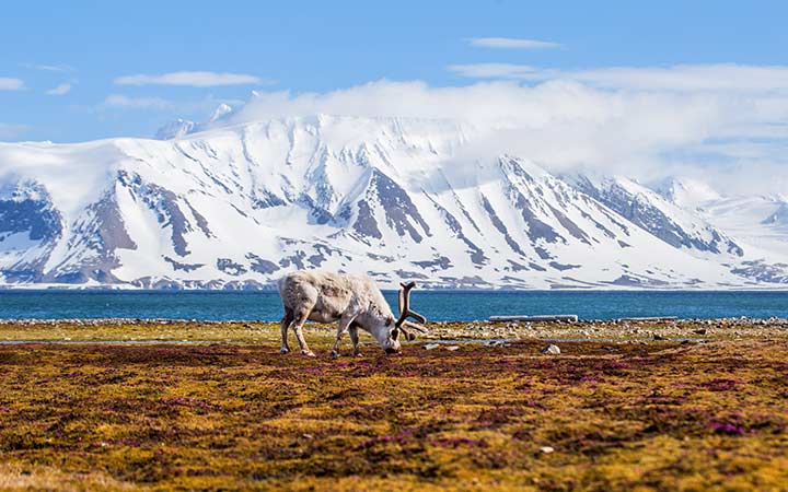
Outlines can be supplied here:
[[1, 324], [0, 490], [788, 489], [785, 325], [429, 328]]

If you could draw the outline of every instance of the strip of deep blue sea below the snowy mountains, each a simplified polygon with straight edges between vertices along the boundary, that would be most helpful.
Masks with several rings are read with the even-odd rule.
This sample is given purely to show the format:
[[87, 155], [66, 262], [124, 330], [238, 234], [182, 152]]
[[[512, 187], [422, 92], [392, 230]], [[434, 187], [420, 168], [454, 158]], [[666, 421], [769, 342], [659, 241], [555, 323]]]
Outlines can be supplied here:
[[[396, 292], [386, 292], [396, 313]], [[413, 309], [433, 321], [500, 315], [575, 314], [580, 319], [636, 316], [788, 317], [788, 291], [414, 291]], [[0, 291], [0, 319], [167, 318], [279, 320], [275, 292]]]

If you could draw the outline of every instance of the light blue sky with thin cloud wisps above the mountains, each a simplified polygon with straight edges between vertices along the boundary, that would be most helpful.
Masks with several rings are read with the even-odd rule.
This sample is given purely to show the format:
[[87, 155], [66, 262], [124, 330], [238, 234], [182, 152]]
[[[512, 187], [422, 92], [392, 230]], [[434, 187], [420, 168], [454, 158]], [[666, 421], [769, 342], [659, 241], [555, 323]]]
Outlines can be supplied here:
[[[147, 137], [253, 90], [327, 93], [381, 79], [534, 84], [551, 71], [786, 65], [788, 2], [645, 3], [7, 2], [0, 141]], [[501, 46], [523, 40], [555, 45]], [[522, 77], [523, 67], [541, 74]], [[178, 72], [210, 73], [162, 77]], [[783, 89], [783, 72], [764, 77], [774, 79], [768, 91]]]

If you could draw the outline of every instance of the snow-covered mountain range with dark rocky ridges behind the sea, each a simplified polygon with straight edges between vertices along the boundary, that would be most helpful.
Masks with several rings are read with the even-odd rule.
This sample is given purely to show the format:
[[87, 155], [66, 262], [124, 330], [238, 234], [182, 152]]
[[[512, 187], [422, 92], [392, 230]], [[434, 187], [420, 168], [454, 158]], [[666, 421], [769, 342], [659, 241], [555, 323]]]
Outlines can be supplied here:
[[1, 280], [243, 289], [324, 268], [387, 286], [788, 285], [785, 256], [633, 180], [470, 152], [485, 131], [314, 116], [0, 144]]

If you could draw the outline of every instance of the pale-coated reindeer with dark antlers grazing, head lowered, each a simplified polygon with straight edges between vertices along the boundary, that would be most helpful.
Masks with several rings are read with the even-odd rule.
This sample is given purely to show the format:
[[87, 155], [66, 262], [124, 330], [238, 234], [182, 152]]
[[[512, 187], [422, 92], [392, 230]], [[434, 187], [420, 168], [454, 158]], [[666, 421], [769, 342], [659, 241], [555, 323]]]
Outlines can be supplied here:
[[[285, 306], [281, 353], [290, 351], [287, 342], [289, 327], [296, 332], [301, 353], [315, 356], [303, 337], [302, 328], [308, 319], [318, 323], [339, 320], [337, 338], [332, 349], [333, 356], [339, 356], [339, 340], [345, 330], [350, 331], [354, 355], [359, 354], [359, 328], [369, 331], [386, 353], [398, 353], [399, 332], [408, 340], [416, 338], [409, 329], [427, 332], [427, 329], [419, 325], [427, 321], [425, 317], [410, 311], [410, 290], [416, 283], [401, 285], [399, 318], [394, 319], [383, 294], [368, 276], [320, 270], [288, 273], [279, 281], [279, 295]], [[419, 324], [407, 320], [408, 317], [415, 318]]]

